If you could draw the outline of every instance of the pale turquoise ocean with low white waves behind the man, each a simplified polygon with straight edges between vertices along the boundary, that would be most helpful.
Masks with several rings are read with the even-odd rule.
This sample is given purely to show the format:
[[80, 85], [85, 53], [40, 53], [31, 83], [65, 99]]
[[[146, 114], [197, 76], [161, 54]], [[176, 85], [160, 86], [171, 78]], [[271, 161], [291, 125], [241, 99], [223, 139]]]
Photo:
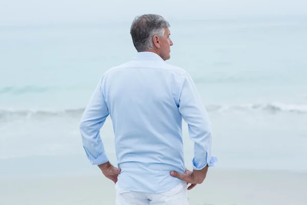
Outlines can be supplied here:
[[[216, 170], [307, 173], [307, 17], [169, 22], [167, 63], [188, 71], [202, 96]], [[0, 177], [99, 172], [85, 157], [78, 124], [103, 73], [135, 57], [129, 27], [0, 27]], [[191, 168], [186, 124], [183, 134]], [[116, 165], [109, 118], [101, 136]]]

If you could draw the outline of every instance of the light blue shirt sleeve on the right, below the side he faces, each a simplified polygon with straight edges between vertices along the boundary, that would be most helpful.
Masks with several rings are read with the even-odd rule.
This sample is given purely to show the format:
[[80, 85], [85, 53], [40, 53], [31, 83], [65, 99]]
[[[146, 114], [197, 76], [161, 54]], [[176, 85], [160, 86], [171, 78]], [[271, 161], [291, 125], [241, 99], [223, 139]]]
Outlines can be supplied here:
[[212, 136], [208, 113], [191, 76], [186, 73], [179, 96], [179, 111], [188, 124], [189, 136], [194, 141], [193, 169], [213, 167], [217, 161], [211, 156]]

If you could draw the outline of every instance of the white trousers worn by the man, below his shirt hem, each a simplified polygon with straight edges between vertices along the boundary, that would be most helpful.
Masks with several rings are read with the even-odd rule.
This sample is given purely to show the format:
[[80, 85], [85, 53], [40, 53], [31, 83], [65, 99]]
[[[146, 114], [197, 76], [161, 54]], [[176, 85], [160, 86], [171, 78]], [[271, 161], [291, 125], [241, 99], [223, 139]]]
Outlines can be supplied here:
[[116, 187], [116, 205], [188, 205], [187, 183], [162, 193], [149, 194]]

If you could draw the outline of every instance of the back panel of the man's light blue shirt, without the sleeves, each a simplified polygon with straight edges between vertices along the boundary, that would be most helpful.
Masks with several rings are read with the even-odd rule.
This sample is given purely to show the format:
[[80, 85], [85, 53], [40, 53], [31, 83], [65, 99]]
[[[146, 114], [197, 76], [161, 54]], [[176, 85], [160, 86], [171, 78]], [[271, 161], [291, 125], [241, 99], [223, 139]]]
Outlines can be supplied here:
[[120, 187], [158, 193], [180, 183], [169, 173], [185, 171], [178, 109], [185, 73], [155, 53], [142, 52], [104, 75], [102, 93], [114, 127]]

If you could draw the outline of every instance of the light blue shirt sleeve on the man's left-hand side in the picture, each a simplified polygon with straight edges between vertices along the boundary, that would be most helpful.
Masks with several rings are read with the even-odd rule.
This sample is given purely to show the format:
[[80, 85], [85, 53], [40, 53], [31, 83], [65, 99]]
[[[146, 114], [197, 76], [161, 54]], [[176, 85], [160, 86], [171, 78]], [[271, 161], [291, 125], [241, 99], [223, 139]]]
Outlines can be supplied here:
[[96, 87], [80, 121], [80, 133], [87, 158], [92, 165], [101, 165], [108, 161], [100, 137], [100, 129], [109, 115], [101, 83]]

